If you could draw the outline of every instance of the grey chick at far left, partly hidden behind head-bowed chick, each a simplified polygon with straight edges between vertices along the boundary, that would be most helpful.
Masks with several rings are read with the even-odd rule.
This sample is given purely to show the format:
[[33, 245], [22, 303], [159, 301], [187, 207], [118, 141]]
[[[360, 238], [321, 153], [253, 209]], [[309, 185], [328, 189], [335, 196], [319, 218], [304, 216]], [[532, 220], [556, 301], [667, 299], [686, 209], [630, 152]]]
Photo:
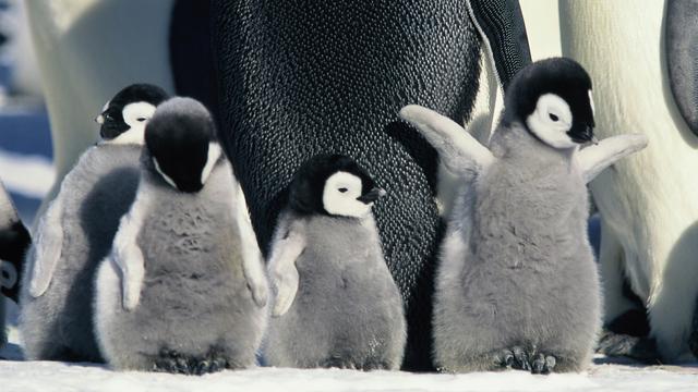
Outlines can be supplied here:
[[135, 84], [107, 102], [96, 119], [100, 142], [83, 152], [39, 217], [20, 296], [27, 359], [101, 362], [94, 274], [133, 201], [145, 124], [165, 99], [159, 87]]

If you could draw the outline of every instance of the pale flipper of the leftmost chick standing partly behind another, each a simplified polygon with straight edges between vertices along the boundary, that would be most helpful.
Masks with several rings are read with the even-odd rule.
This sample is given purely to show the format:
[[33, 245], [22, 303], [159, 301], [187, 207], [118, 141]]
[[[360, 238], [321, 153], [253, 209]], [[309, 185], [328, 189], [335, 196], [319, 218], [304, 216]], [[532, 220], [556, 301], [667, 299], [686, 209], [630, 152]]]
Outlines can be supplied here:
[[61, 195], [51, 201], [41, 217], [36, 232], [36, 245], [33, 249], [32, 274], [29, 279], [29, 295], [41, 296], [53, 278], [56, 265], [61, 257], [63, 247], [63, 203]]

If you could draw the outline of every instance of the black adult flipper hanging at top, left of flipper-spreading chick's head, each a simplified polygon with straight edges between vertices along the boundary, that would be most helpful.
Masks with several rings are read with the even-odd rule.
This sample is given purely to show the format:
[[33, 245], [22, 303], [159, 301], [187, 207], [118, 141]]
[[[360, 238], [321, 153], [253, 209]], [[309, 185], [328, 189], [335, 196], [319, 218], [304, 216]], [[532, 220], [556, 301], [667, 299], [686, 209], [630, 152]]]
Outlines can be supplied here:
[[468, 13], [490, 50], [503, 89], [531, 63], [526, 24], [517, 0], [468, 0]]

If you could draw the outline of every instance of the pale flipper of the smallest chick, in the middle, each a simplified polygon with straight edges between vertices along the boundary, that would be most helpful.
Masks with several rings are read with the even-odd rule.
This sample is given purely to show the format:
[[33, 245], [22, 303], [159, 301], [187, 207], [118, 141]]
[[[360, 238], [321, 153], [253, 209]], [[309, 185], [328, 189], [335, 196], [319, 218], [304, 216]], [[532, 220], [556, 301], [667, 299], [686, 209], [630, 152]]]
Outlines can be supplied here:
[[274, 317], [286, 314], [296, 298], [299, 280], [296, 260], [303, 249], [305, 249], [305, 235], [298, 224], [291, 225], [286, 236], [274, 244], [269, 259], [269, 275], [276, 292], [272, 310]]

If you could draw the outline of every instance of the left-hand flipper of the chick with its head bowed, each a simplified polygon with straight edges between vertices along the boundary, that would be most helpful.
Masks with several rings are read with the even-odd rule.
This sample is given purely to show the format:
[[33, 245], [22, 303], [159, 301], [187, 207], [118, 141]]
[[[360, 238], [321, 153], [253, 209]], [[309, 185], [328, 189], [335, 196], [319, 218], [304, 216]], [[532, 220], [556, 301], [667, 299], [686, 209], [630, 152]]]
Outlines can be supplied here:
[[121, 271], [123, 308], [127, 310], [133, 310], [139, 305], [145, 277], [145, 260], [136, 240], [148, 209], [146, 194], [147, 192], [139, 189], [131, 210], [121, 217], [111, 248], [110, 258]]

